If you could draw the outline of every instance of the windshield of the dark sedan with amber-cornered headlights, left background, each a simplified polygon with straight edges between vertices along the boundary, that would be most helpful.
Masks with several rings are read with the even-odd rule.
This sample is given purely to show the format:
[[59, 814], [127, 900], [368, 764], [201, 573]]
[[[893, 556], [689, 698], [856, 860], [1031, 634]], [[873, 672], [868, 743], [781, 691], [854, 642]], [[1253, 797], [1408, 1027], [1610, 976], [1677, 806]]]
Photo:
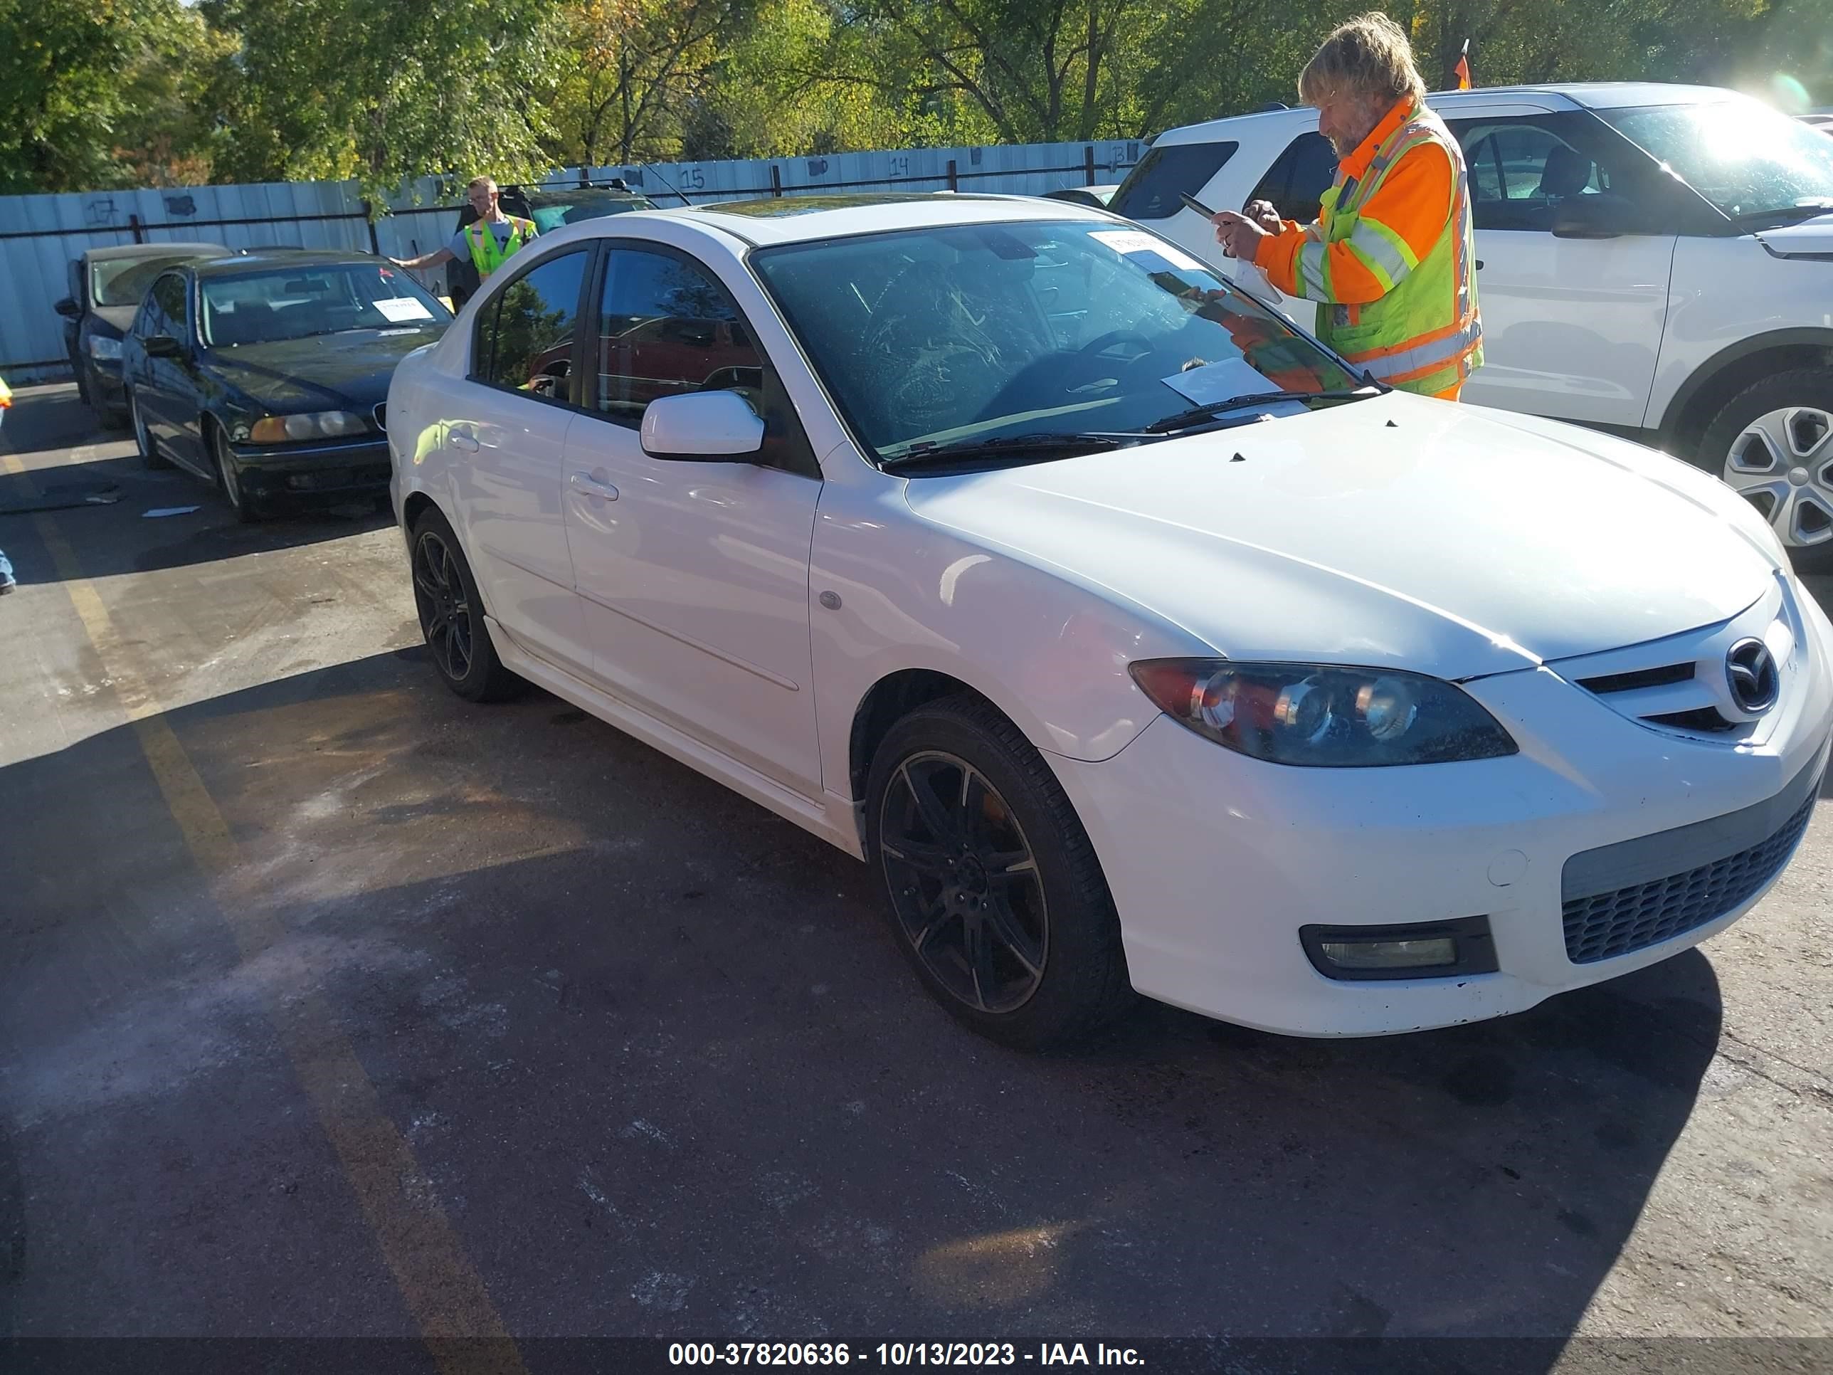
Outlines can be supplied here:
[[379, 262], [310, 262], [207, 277], [200, 295], [209, 348], [345, 330], [438, 330], [451, 321], [445, 306], [407, 273]]

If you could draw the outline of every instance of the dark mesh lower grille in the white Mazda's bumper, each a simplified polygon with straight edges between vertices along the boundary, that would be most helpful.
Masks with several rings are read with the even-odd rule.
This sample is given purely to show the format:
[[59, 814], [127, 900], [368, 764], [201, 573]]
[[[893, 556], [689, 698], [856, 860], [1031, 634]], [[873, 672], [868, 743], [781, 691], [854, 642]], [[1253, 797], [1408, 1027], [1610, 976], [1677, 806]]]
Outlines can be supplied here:
[[1648, 884], [1564, 904], [1565, 957], [1573, 964], [1628, 955], [1723, 917], [1774, 878], [1815, 814], [1809, 794], [1769, 838], [1723, 860]]

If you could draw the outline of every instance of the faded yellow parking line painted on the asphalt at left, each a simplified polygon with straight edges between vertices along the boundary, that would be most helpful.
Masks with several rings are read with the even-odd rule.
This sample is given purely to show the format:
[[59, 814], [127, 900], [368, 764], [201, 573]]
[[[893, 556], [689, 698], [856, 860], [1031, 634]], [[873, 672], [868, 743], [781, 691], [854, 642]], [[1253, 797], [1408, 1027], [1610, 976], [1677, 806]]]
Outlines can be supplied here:
[[[0, 455], [0, 466], [9, 475], [26, 475], [26, 466], [9, 453]], [[255, 959], [279, 944], [286, 930], [242, 887], [240, 849], [229, 823], [167, 724], [139, 667], [139, 651], [117, 632], [57, 522], [48, 513], [33, 521], [236, 950], [244, 961]], [[445, 1375], [526, 1375], [484, 1280], [423, 1186], [412, 1148], [383, 1111], [376, 1085], [337, 1030], [324, 999], [317, 994], [275, 997], [268, 1016], [438, 1368]]]

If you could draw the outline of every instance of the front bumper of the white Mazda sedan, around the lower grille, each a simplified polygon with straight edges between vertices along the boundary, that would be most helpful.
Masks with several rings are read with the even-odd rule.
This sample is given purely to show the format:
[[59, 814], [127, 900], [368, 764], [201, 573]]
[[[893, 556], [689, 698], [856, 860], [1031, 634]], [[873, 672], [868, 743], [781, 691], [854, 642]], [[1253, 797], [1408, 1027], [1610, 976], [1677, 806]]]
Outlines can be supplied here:
[[[1721, 931], [1780, 874], [1828, 764], [1833, 627], [1800, 601], [1802, 666], [1756, 748], [1626, 720], [1540, 667], [1466, 684], [1521, 746], [1505, 759], [1287, 768], [1166, 717], [1105, 763], [1052, 755], [1133, 986], [1263, 1030], [1378, 1036], [1521, 1012]], [[1344, 981], [1300, 939], [1472, 917], [1492, 974]]]

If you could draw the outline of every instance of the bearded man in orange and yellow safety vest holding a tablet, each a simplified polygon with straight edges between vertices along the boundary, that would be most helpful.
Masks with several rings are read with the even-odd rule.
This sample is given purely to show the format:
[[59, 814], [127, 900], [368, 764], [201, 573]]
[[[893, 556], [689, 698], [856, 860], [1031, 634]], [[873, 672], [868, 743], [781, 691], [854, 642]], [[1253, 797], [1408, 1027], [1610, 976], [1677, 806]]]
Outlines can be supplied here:
[[1287, 295], [1318, 302], [1318, 337], [1358, 370], [1457, 400], [1483, 365], [1465, 156], [1426, 108], [1406, 33], [1386, 15], [1338, 28], [1298, 77], [1336, 147], [1316, 224], [1263, 200], [1215, 216], [1230, 257]]

